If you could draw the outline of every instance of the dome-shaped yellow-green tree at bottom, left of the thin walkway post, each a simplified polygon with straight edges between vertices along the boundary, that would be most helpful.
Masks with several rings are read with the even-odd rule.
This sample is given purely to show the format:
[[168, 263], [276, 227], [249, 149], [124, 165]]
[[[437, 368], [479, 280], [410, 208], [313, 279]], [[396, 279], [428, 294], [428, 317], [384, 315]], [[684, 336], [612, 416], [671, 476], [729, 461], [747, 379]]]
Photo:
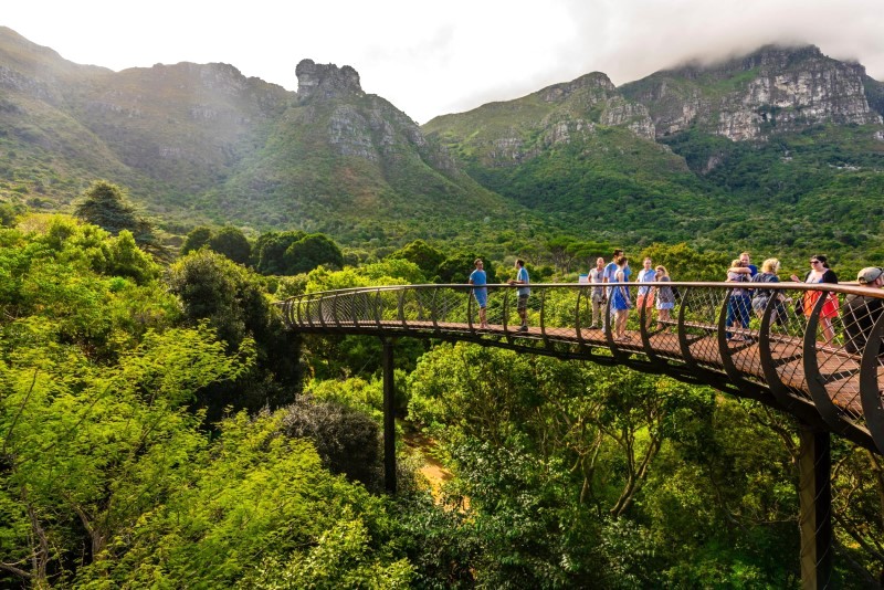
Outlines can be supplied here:
[[179, 454], [178, 488], [114, 536], [76, 587], [408, 588], [382, 503], [280, 435], [282, 412], [224, 419]]

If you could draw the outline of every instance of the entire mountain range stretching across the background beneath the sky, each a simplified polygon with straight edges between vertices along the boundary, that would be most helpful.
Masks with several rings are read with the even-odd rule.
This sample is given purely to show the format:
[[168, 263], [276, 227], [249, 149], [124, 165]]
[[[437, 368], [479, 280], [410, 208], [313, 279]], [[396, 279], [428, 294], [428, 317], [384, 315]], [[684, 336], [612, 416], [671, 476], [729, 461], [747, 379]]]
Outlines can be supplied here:
[[0, 200], [70, 210], [104, 178], [172, 233], [884, 255], [884, 84], [812, 45], [620, 87], [589, 73], [422, 127], [350, 66], [295, 75], [297, 92], [218, 63], [113, 72], [0, 28]]

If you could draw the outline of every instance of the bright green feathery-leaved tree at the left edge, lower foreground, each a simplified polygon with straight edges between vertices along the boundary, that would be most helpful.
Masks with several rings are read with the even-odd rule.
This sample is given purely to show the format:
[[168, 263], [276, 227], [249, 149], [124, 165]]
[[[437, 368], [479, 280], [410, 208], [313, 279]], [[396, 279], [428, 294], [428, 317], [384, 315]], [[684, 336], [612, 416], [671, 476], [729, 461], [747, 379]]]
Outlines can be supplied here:
[[201, 328], [151, 333], [102, 366], [53, 344], [46, 327], [22, 323], [28, 338], [0, 370], [2, 563], [20, 563], [15, 573], [34, 588], [101, 560], [115, 536], [178, 489], [183, 457], [203, 443], [201, 415], [186, 404], [250, 361], [227, 357]]

